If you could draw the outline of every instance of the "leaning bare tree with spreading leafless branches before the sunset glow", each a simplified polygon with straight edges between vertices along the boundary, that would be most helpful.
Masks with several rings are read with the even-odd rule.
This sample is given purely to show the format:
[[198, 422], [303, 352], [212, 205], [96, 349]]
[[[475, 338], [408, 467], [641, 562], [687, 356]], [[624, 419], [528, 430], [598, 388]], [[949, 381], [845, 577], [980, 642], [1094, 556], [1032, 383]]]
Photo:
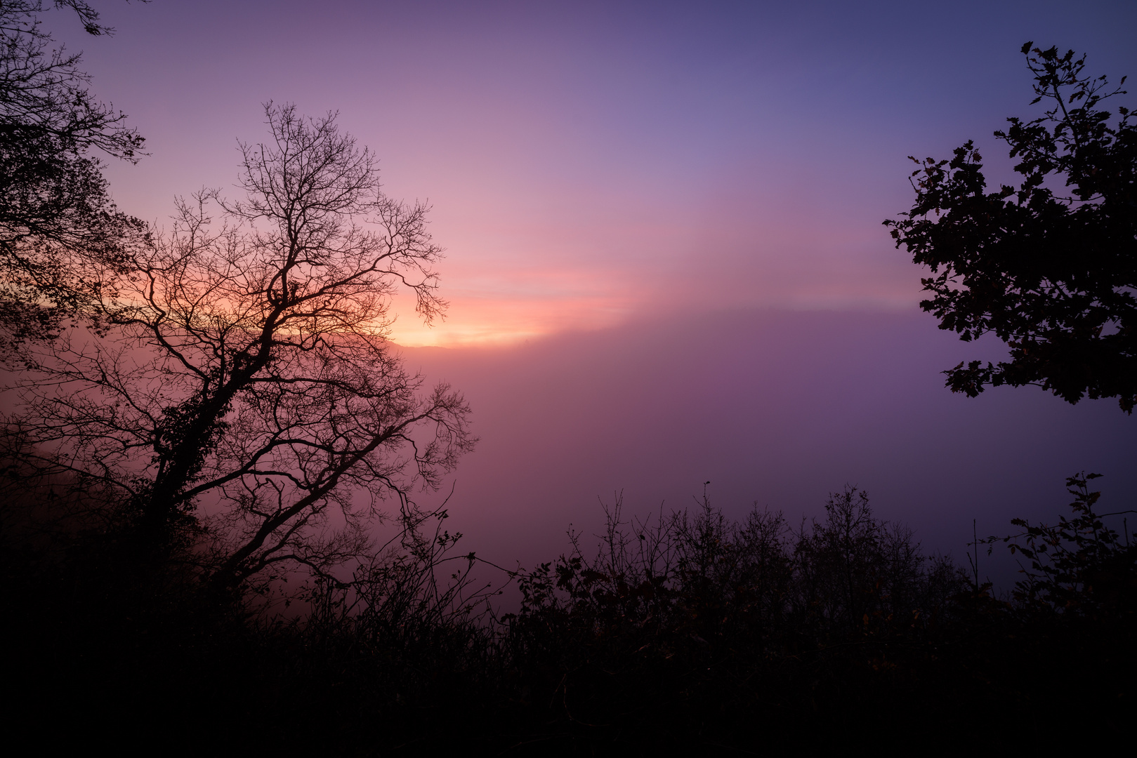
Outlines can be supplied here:
[[25, 460], [117, 493], [146, 544], [204, 535], [229, 585], [359, 555], [381, 501], [413, 516], [475, 442], [462, 395], [421, 394], [387, 341], [397, 290], [428, 323], [446, 307], [426, 206], [384, 195], [333, 114], [265, 113], [244, 199], [199, 192], [123, 265], [89, 261], [84, 326], [25, 349], [8, 419]]

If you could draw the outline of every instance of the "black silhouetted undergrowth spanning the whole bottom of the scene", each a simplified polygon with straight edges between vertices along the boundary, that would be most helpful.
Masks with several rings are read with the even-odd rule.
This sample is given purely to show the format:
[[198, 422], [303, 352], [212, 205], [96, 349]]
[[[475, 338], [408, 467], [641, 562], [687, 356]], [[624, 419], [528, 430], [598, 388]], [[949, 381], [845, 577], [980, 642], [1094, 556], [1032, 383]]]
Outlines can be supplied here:
[[293, 578], [283, 608], [268, 584], [222, 593], [176, 556], [143, 565], [111, 509], [7, 473], [9, 734], [44, 747], [946, 752], [1131, 730], [1137, 547], [1092, 477], [1069, 481], [1056, 526], [987, 541], [1024, 558], [1005, 597], [847, 489], [800, 525], [705, 499], [641, 523], [617, 502], [598, 549], [576, 535], [514, 572], [520, 609], [496, 615], [443, 514], [352, 581]]

